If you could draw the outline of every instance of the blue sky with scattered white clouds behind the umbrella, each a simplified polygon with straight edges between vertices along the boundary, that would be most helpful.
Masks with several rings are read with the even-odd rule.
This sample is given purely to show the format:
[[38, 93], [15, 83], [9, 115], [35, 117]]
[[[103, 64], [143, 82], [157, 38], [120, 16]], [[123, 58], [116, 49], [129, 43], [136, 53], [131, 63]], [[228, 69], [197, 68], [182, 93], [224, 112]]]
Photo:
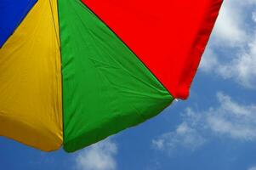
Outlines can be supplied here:
[[256, 170], [256, 0], [226, 0], [188, 100], [73, 154], [0, 137], [0, 170]]

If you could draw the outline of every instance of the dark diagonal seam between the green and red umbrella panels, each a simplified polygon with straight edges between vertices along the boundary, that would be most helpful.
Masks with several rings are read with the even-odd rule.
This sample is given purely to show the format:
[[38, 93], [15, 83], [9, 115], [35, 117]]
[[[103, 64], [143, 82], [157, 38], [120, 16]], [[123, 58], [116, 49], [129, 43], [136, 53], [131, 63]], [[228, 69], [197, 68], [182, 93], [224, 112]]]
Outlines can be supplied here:
[[[98, 20], [100, 20], [100, 21], [101, 21], [101, 22], [102, 22], [102, 23], [103, 23], [103, 24], [104, 24], [104, 25], [105, 25], [105, 26], [106, 26], [106, 27], [107, 27], [124, 45], [125, 45], [125, 47], [128, 48], [128, 50], [129, 50], [132, 54], [134, 54], [134, 56], [135, 56], [137, 59], [139, 59], [138, 55], [135, 54], [134, 51], [133, 51], [131, 48], [129, 48], [128, 44], [127, 44], [126, 42], [124, 42], [124, 41], [122, 40], [122, 38], [119, 37], [119, 36], [117, 35], [117, 33], [116, 33], [115, 31], [113, 31], [113, 30], [111, 29], [111, 27], [108, 26], [108, 25], [105, 23], [105, 21], [100, 18], [100, 16], [99, 16], [98, 14], [94, 13], [94, 10], [92, 10], [91, 8], [89, 8], [87, 4], [85, 4], [85, 3], [82, 2], [82, 0], [79, 0], [79, 1], [81, 1], [81, 3], [82, 3], [86, 8], [88, 8], [88, 9], [95, 15], [95, 17], [97, 17]], [[141, 59], [139, 59], [139, 61], [140, 61], [140, 63], [141, 63], [142, 65], [145, 66], [145, 68], [146, 68], [148, 71], [150, 71], [151, 75], [156, 78], [157, 82], [160, 82], [160, 83], [161, 83], [162, 87], [165, 88], [165, 90], [168, 92], [168, 94], [170, 94], [171, 97], [174, 99], [174, 95], [171, 94], [171, 92], [168, 90], [168, 88], [166, 88], [166, 87], [164, 86], [164, 84], [156, 77], [156, 75], [151, 71], [151, 69], [150, 69], [147, 65], [145, 65], [145, 63], [144, 63]]]

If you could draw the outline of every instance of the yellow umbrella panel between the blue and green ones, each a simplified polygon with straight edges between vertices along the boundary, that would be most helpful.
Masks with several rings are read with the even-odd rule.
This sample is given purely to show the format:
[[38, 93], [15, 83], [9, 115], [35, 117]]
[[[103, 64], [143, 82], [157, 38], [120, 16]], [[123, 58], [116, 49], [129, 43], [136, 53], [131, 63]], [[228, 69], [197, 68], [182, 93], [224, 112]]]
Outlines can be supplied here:
[[0, 135], [40, 150], [62, 144], [56, 0], [38, 0], [0, 49]]

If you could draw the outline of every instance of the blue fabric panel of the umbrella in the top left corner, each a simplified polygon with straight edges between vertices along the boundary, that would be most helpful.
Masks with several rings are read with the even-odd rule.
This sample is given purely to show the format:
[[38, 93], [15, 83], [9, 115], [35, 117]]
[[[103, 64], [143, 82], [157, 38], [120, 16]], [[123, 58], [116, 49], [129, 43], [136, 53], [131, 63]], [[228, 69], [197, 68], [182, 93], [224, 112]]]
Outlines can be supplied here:
[[0, 0], [0, 48], [37, 0]]

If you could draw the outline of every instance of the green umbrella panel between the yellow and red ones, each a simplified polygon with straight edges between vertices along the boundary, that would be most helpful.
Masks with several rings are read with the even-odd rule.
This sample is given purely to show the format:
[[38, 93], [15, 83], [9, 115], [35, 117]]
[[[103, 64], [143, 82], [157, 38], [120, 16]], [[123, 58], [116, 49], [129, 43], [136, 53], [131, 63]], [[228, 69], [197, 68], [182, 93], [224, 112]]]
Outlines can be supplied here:
[[173, 97], [79, 0], [60, 0], [64, 149], [82, 149], [156, 116]]

